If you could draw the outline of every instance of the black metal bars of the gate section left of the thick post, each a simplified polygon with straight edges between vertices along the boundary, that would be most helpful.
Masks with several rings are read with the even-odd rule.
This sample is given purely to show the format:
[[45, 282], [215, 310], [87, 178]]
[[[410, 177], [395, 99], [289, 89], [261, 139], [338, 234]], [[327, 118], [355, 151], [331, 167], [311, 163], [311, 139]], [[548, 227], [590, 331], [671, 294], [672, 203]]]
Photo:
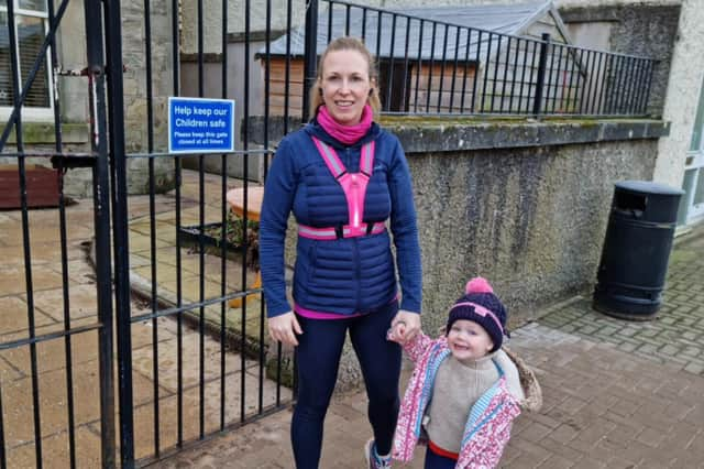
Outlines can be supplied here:
[[[20, 205], [21, 205], [21, 225], [22, 225], [22, 244], [24, 251], [24, 270], [25, 270], [25, 290], [28, 302], [28, 338], [11, 340], [4, 343], [0, 343], [0, 350], [11, 350], [20, 347], [29, 346], [30, 349], [30, 364], [31, 364], [31, 381], [32, 381], [32, 415], [34, 427], [34, 449], [35, 449], [35, 465], [37, 468], [43, 467], [44, 454], [42, 445], [42, 418], [40, 407], [40, 386], [38, 386], [38, 368], [37, 368], [37, 345], [42, 342], [48, 342], [51, 340], [64, 339], [64, 352], [65, 352], [65, 368], [66, 368], [66, 400], [67, 400], [67, 422], [68, 422], [68, 454], [69, 466], [76, 466], [76, 435], [75, 435], [75, 403], [73, 397], [74, 391], [74, 377], [72, 364], [72, 336], [77, 334], [84, 334], [89, 331], [98, 331], [98, 358], [99, 358], [99, 380], [100, 380], [100, 425], [101, 425], [101, 458], [105, 467], [113, 467], [114, 465], [114, 411], [113, 411], [113, 391], [112, 391], [112, 310], [111, 310], [111, 284], [110, 284], [110, 255], [109, 255], [109, 205], [108, 193], [109, 185], [107, 178], [107, 152], [105, 151], [106, 132], [105, 132], [105, 109], [100, 116], [94, 116], [96, 119], [96, 126], [100, 127], [98, 133], [99, 143], [98, 149], [94, 148], [91, 155], [82, 155], [79, 159], [88, 162], [89, 166], [94, 168], [94, 216], [95, 216], [95, 230], [96, 230], [96, 252], [97, 252], [97, 302], [98, 302], [98, 319], [96, 324], [84, 325], [79, 327], [72, 327], [70, 319], [70, 303], [69, 303], [69, 286], [68, 286], [68, 253], [67, 253], [67, 233], [66, 233], [66, 199], [63, 188], [63, 173], [67, 167], [73, 165], [72, 160], [76, 154], [64, 153], [62, 143], [62, 127], [61, 127], [61, 107], [58, 103], [58, 97], [54, 95], [54, 138], [55, 150], [53, 152], [28, 152], [24, 148], [23, 141], [23, 126], [22, 116], [20, 110], [22, 109], [24, 101], [34, 84], [38, 70], [42, 67], [46, 67], [46, 52], [51, 52], [50, 59], [52, 67], [58, 69], [57, 57], [55, 50], [55, 33], [59, 26], [61, 20], [67, 8], [67, 0], [64, 0], [58, 10], [54, 11], [54, 4], [50, 2], [47, 4], [48, 29], [44, 37], [43, 44], [40, 47], [40, 53], [34, 59], [33, 66], [29, 68], [26, 74], [26, 80], [24, 86], [20, 88], [20, 73], [19, 73], [19, 57], [18, 57], [18, 44], [16, 44], [16, 30], [14, 28], [15, 12], [12, 1], [7, 3], [8, 8], [8, 30], [9, 40], [11, 46], [11, 68], [12, 68], [12, 90], [13, 90], [13, 110], [12, 114], [3, 130], [2, 138], [0, 139], [0, 151], [4, 148], [12, 128], [15, 129], [16, 139], [16, 152], [3, 153], [3, 156], [18, 159], [19, 183], [20, 183]], [[86, 21], [90, 23], [91, 18], [91, 4], [87, 2], [85, 6]], [[98, 22], [99, 23], [99, 22]], [[102, 33], [100, 30], [87, 28], [87, 45], [89, 52], [89, 68], [98, 72], [98, 75], [102, 75], [102, 61], [99, 56], [96, 56], [96, 51], [101, 51]], [[97, 45], [97, 46], [96, 46]], [[51, 47], [51, 50], [48, 48]], [[92, 59], [92, 62], [91, 62]], [[96, 86], [100, 88], [101, 83], [98, 79]], [[98, 92], [99, 95], [99, 92]], [[91, 108], [92, 110], [92, 108]], [[100, 146], [102, 143], [102, 146]], [[97, 153], [95, 152], [96, 150]], [[102, 150], [102, 151], [100, 151]], [[58, 168], [58, 221], [59, 221], [59, 255], [61, 255], [61, 279], [62, 279], [62, 293], [63, 293], [63, 328], [62, 331], [51, 334], [36, 334], [35, 324], [35, 302], [34, 302], [34, 283], [32, 274], [32, 253], [30, 242], [30, 217], [29, 217], [29, 200], [28, 200], [28, 179], [26, 179], [26, 166], [25, 159], [29, 156], [45, 157], [52, 160], [55, 167]], [[1, 390], [0, 390], [1, 391]], [[0, 395], [0, 403], [2, 396]], [[7, 441], [6, 432], [3, 425], [3, 413], [0, 406], [0, 449], [2, 455], [0, 457], [0, 466], [7, 467]]]

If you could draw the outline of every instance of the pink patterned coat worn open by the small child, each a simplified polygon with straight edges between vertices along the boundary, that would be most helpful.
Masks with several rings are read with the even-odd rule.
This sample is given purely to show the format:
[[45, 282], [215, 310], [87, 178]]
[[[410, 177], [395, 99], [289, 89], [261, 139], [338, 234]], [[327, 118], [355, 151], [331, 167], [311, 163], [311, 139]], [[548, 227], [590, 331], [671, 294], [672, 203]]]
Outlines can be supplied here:
[[[400, 404], [393, 456], [410, 461], [414, 448], [421, 443], [421, 422], [432, 397], [433, 382], [440, 363], [450, 355], [447, 338], [430, 339], [419, 334], [404, 346], [416, 363]], [[496, 362], [495, 362], [496, 363]], [[464, 426], [460, 458], [455, 469], [495, 468], [510, 437], [514, 418], [520, 414], [519, 403], [506, 386], [506, 377], [498, 364], [498, 381], [472, 406]]]

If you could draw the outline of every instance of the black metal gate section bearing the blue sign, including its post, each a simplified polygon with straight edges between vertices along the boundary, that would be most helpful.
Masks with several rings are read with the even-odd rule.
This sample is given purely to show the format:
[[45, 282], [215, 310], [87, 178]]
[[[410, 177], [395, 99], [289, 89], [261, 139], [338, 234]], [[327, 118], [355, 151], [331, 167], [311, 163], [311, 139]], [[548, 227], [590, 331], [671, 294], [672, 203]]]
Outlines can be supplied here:
[[[231, 96], [229, 85], [233, 77], [229, 70], [227, 32], [232, 11], [228, 2], [222, 1], [216, 15], [219, 18], [213, 21], [210, 17], [206, 24], [202, 1], [161, 2], [170, 13], [166, 15], [170, 21], [155, 25], [164, 12], [153, 11], [152, 3], [144, 1], [139, 8], [143, 37], [138, 41], [138, 47], [143, 48], [128, 52], [128, 43], [134, 47], [134, 42], [130, 42], [130, 34], [121, 29], [130, 15], [125, 3], [121, 9], [120, 2], [106, 2], [103, 8], [112, 164], [119, 438], [121, 463], [132, 467], [156, 461], [191, 443], [282, 410], [290, 403], [293, 393], [283, 386], [285, 360], [280, 345], [267, 353], [264, 304], [256, 283], [256, 268], [252, 266], [258, 208], [250, 198], [252, 192], [261, 193], [262, 185], [260, 181], [251, 181], [250, 166], [256, 159], [264, 174], [266, 172], [272, 151], [266, 137], [268, 114], [265, 111], [264, 144], [257, 148], [250, 148], [248, 126], [242, 126], [239, 148], [228, 154], [169, 153], [163, 139], [166, 97]], [[185, 51], [185, 22], [179, 19], [183, 9], [189, 7], [195, 8], [197, 19], [196, 46], [191, 54]], [[130, 8], [134, 10], [135, 4]], [[242, 121], [248, 122], [252, 100], [250, 61], [246, 59], [251, 47], [250, 2], [243, 2], [241, 10], [237, 12], [245, 18], [241, 106]], [[271, 34], [271, 2], [266, 2], [266, 37]], [[206, 51], [205, 37], [216, 25], [221, 29], [220, 48], [215, 54], [220, 74], [210, 70], [209, 76], [216, 81], [219, 79], [220, 86], [207, 88], [206, 68], [213, 63], [213, 54]], [[164, 29], [168, 34], [164, 34]], [[168, 52], [164, 50], [166, 44], [170, 46]], [[123, 61], [139, 53], [145, 58], [142, 67], [139, 59]], [[189, 59], [191, 75], [187, 78], [182, 68]], [[164, 74], [170, 74], [170, 88], [164, 86]], [[131, 86], [141, 90], [138, 95], [143, 97], [144, 106], [136, 108], [144, 109], [143, 113], [138, 110], [134, 116], [128, 111], [140, 98], [127, 102], [127, 96], [134, 94], [134, 89], [123, 87], [123, 77], [125, 81], [129, 77]], [[185, 88], [189, 88], [188, 91]], [[135, 129], [142, 130], [145, 138], [135, 139], [131, 134]], [[173, 175], [173, 192], [166, 203], [157, 195], [156, 187], [158, 163], [164, 161], [170, 168], [163, 172], [162, 165], [162, 177], [168, 179]], [[240, 178], [229, 177], [232, 165], [241, 170]], [[142, 171], [147, 174], [146, 200], [128, 197], [130, 176]], [[187, 194], [189, 187], [191, 190]], [[239, 195], [239, 201], [229, 201], [232, 192]], [[148, 230], [142, 239], [148, 241], [148, 248], [131, 246], [136, 239], [132, 214], [142, 205], [148, 207], [148, 214], [142, 218], [144, 230]], [[209, 234], [213, 225], [219, 225], [220, 230]], [[239, 231], [239, 238], [231, 240], [230, 231]], [[190, 238], [184, 237], [185, 232], [189, 232]], [[146, 305], [141, 313], [131, 310], [133, 302], [130, 301], [134, 293], [130, 285], [134, 286], [138, 270], [131, 263], [139, 252], [145, 261], [143, 277], [146, 280], [146, 288], [141, 291]], [[147, 364], [138, 370], [135, 356], [145, 349], [139, 349], [132, 339], [136, 329], [144, 326], [151, 328], [152, 340], [148, 351], [142, 356], [146, 359], [143, 363]], [[163, 334], [170, 338], [164, 339]], [[148, 390], [138, 382], [144, 377], [151, 382]], [[139, 396], [138, 390], [147, 395]]]

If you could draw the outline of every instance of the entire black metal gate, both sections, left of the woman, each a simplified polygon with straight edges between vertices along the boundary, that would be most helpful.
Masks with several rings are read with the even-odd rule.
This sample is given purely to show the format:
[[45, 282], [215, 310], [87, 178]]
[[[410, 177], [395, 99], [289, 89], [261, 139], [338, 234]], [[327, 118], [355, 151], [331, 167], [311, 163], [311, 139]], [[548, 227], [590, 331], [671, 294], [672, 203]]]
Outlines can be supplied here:
[[[163, 139], [165, 98], [180, 96], [183, 88], [193, 84], [182, 75], [180, 64], [188, 54], [182, 44], [185, 33], [179, 18], [191, 3], [73, 2], [72, 7], [82, 7], [86, 37], [85, 68], [75, 70], [64, 69], [57, 54], [57, 42], [76, 34], [61, 28], [67, 23], [69, 1], [61, 1], [56, 9], [52, 1], [34, 3], [38, 13], [28, 12], [28, 3], [18, 0], [8, 1], [4, 10], [0, 7], [0, 29], [1, 20], [7, 23], [7, 32], [0, 37], [7, 40], [0, 44], [0, 59], [7, 52], [6, 59], [12, 65], [7, 75], [12, 84], [12, 111], [2, 131], [0, 164], [11, 160], [16, 166], [12, 174], [18, 178], [20, 204], [9, 217], [18, 214], [18, 233], [23, 241], [23, 262], [18, 270], [21, 268], [25, 276], [25, 288], [18, 294], [18, 301], [26, 303], [26, 327], [14, 335], [0, 334], [0, 468], [144, 466], [227, 428], [285, 408], [294, 397], [290, 385], [283, 385], [284, 374], [290, 374], [290, 360], [284, 357], [280, 345], [267, 353], [264, 305], [253, 259], [257, 208], [250, 201], [253, 190], [261, 193], [263, 177], [251, 177], [252, 160], [265, 174], [272, 150], [268, 143], [250, 148], [248, 126], [243, 126], [238, 150], [215, 156], [170, 154]], [[210, 94], [227, 98], [232, 95], [229, 84], [233, 80], [228, 69], [228, 2], [222, 1], [220, 11], [221, 89], [215, 94], [206, 88], [205, 69], [212, 54], [204, 50], [204, 4], [199, 1], [193, 6], [198, 19], [197, 46], [190, 62], [196, 86], [186, 96]], [[243, 2], [242, 10], [246, 20], [241, 44], [248, 57], [253, 52], [249, 1]], [[272, 4], [266, 2], [266, 42], [271, 14]], [[292, 1], [287, 14], [290, 18]], [[28, 18], [38, 19], [41, 26], [28, 32]], [[140, 23], [134, 22], [135, 18]], [[154, 21], [160, 23], [154, 25]], [[131, 28], [129, 32], [125, 24]], [[290, 21], [288, 24], [290, 28]], [[135, 39], [134, 31], [141, 32], [136, 43], [142, 48], [125, 50], [125, 42], [128, 47], [134, 46], [135, 42], [130, 42]], [[30, 62], [25, 56], [28, 35], [38, 44], [32, 50]], [[250, 61], [242, 61], [242, 65], [244, 99], [238, 105], [242, 106], [241, 119], [246, 122]], [[89, 108], [86, 117], [90, 121], [90, 143], [85, 151], [63, 142], [63, 107], [72, 102], [59, 99], [59, 77], [85, 80]], [[48, 84], [45, 91], [53, 99], [44, 106], [54, 114], [52, 149], [24, 143], [31, 127], [24, 114], [42, 83]], [[268, 112], [264, 122], [266, 141]], [[38, 189], [29, 183], [34, 170], [28, 170], [28, 162], [55, 170], [55, 208], [47, 210], [48, 203], [34, 204]], [[240, 177], [228, 175], [233, 172], [231, 166], [240, 170]], [[79, 320], [72, 303], [72, 217], [67, 221], [70, 209], [64, 182], [66, 173], [75, 168], [91, 172], [95, 216], [89, 238], [97, 292], [96, 313], [89, 315], [92, 320]], [[146, 195], [132, 197], [131, 184], [140, 177], [145, 183], [139, 192]], [[239, 194], [239, 201], [228, 203], [230, 192]], [[88, 203], [85, 199], [79, 205]], [[233, 211], [240, 216], [233, 216]], [[34, 304], [38, 291], [33, 284], [37, 254], [32, 238], [54, 229], [53, 217], [61, 237], [61, 253], [52, 259], [61, 264], [55, 270], [61, 271], [63, 320], [46, 329], [37, 326], [44, 313]], [[43, 225], [34, 223], [35, 218]], [[217, 225], [220, 230], [209, 232]], [[230, 232], [238, 230], [239, 238], [232, 241]], [[4, 312], [0, 314], [10, 318]], [[0, 332], [6, 331], [0, 328]], [[85, 370], [79, 371], [74, 364], [76, 340], [90, 334], [96, 336], [97, 345], [81, 347], [80, 352], [95, 356], [98, 370], [84, 374]], [[53, 370], [65, 383], [59, 401], [53, 401], [55, 393], [47, 391], [53, 384], [47, 384], [43, 373], [44, 360], [51, 352], [38, 349], [46, 343], [63, 346], [63, 364]], [[22, 374], [25, 379], [8, 378], [6, 368], [12, 371], [12, 360], [4, 360], [2, 353], [24, 352], [30, 362], [30, 369]], [[15, 384], [19, 381], [26, 388], [20, 390]], [[86, 385], [88, 382], [99, 389]], [[15, 395], [22, 393], [31, 396], [29, 405], [15, 408]], [[84, 406], [91, 400], [99, 407], [98, 421], [84, 415]], [[56, 417], [48, 410], [64, 403], [62, 422], [54, 423]], [[23, 436], [28, 428], [33, 430], [31, 440]], [[92, 435], [86, 437], [88, 440], [81, 436], [84, 430]], [[99, 444], [92, 441], [96, 434]], [[92, 452], [99, 447], [100, 455], [86, 458], [88, 447]], [[28, 454], [32, 455], [31, 461], [26, 460]]]

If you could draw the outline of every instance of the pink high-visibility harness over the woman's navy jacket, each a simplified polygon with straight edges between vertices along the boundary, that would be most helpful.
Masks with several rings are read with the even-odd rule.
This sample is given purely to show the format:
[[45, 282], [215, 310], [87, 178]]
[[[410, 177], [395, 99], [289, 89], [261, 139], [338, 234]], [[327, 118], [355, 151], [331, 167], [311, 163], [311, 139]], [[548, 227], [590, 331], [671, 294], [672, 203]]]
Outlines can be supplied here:
[[328, 170], [330, 170], [332, 176], [340, 186], [342, 186], [342, 190], [344, 190], [350, 220], [348, 225], [330, 228], [298, 225], [298, 236], [318, 240], [333, 240], [384, 232], [386, 229], [384, 222], [365, 223], [362, 221], [364, 219], [366, 185], [374, 171], [374, 141], [365, 143], [362, 146], [359, 173], [349, 173], [332, 146], [321, 142], [315, 137], [312, 137], [312, 141], [318, 148], [318, 152], [326, 162]]

